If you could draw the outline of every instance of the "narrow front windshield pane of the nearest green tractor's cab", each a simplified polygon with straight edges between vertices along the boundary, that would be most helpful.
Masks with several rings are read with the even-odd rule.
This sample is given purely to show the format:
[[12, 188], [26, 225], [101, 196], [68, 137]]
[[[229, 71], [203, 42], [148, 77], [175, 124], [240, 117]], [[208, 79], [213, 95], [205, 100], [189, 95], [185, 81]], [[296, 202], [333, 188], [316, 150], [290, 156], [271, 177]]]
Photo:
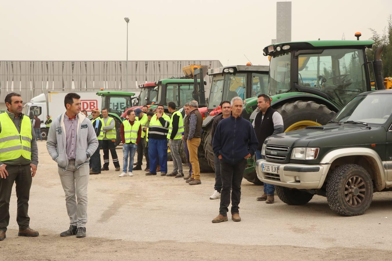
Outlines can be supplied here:
[[290, 52], [271, 57], [268, 79], [269, 94], [290, 90]]

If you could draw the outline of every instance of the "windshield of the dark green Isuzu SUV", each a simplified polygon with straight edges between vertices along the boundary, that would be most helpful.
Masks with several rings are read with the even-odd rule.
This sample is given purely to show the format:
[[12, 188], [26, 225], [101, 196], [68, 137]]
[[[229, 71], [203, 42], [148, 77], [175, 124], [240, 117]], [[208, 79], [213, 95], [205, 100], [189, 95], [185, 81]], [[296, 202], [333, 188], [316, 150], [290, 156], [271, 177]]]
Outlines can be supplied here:
[[358, 95], [332, 121], [362, 121], [383, 125], [392, 114], [392, 94]]

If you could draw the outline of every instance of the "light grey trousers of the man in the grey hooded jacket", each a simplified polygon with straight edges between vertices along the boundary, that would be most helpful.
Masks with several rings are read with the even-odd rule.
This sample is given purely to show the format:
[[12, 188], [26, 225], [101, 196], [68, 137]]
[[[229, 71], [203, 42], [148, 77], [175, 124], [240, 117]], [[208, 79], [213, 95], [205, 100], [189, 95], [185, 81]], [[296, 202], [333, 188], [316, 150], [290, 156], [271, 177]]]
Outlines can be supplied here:
[[89, 164], [84, 164], [76, 169], [75, 160], [69, 160], [67, 170], [63, 171], [59, 167], [58, 174], [65, 193], [65, 206], [67, 207], [69, 224], [86, 227]]

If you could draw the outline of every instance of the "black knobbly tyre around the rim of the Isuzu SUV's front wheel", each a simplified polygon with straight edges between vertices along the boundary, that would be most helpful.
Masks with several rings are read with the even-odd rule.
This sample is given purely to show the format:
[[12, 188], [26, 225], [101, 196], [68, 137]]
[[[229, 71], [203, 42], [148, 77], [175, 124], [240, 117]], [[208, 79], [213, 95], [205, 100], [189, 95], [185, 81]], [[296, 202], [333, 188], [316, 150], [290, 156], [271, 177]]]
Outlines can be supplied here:
[[[365, 186], [365, 197], [358, 207], [350, 206], [345, 200], [345, 185], [350, 178], [359, 176]], [[369, 173], [356, 164], [345, 164], [336, 167], [327, 182], [327, 201], [329, 207], [341, 216], [362, 215], [370, 207], [373, 198], [373, 182]]]

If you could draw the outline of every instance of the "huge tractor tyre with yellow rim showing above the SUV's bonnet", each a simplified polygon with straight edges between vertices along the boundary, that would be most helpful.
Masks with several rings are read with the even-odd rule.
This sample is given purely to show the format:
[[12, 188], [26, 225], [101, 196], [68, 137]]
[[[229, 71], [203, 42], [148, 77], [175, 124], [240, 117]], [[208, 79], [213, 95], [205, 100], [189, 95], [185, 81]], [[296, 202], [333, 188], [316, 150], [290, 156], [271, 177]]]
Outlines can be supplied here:
[[324, 104], [314, 101], [292, 101], [276, 110], [282, 115], [285, 132], [307, 126], [325, 125], [336, 114]]

